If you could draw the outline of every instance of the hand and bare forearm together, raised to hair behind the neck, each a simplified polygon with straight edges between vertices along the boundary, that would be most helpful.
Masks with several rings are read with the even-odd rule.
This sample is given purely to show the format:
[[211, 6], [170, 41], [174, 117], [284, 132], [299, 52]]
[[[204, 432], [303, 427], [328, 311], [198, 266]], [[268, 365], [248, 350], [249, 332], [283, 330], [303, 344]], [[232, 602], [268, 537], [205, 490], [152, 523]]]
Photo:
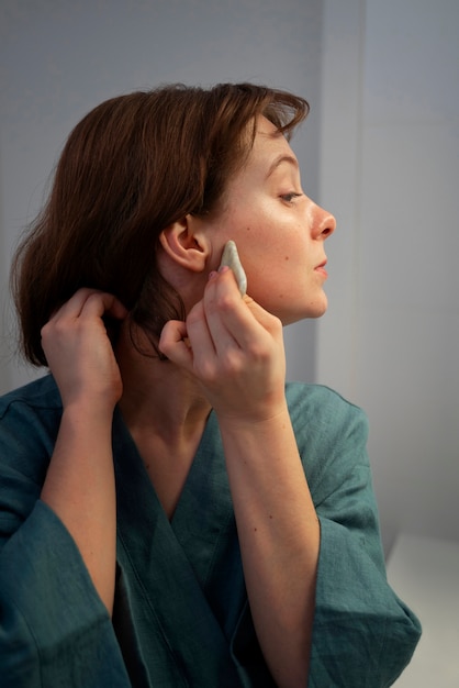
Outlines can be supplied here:
[[127, 311], [110, 293], [79, 289], [42, 330], [64, 412], [41, 497], [71, 534], [111, 612], [116, 569], [111, 429], [122, 380], [104, 315], [123, 320]]

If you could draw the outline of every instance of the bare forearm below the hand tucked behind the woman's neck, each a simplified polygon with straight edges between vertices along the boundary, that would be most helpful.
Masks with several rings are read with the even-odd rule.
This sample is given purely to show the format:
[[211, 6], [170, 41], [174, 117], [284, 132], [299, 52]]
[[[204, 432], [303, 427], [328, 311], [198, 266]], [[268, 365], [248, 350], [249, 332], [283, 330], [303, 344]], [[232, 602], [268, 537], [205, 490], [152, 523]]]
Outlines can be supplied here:
[[64, 411], [41, 497], [72, 535], [111, 613], [116, 504], [111, 422], [107, 414], [98, 415], [89, 408]]

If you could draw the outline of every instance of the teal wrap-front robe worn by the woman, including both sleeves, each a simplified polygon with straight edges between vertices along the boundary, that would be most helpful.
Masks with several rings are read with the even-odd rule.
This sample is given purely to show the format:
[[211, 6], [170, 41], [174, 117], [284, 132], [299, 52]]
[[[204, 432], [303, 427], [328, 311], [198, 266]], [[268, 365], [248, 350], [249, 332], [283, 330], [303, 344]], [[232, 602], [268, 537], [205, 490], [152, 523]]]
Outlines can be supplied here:
[[[421, 628], [387, 582], [366, 417], [324, 387], [291, 384], [287, 399], [321, 523], [309, 687], [390, 686]], [[113, 619], [40, 499], [60, 414], [52, 376], [0, 399], [2, 688], [275, 686], [247, 602], [215, 414], [169, 521], [115, 411]]]

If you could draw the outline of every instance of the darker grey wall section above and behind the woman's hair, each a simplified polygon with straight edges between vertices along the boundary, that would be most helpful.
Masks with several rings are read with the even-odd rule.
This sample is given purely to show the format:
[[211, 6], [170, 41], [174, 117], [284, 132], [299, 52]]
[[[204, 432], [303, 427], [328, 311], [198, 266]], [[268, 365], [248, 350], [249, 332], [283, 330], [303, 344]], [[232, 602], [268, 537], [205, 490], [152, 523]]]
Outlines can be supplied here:
[[[295, 140], [317, 192], [322, 0], [2, 0], [0, 392], [30, 379], [4, 315], [12, 246], [41, 206], [70, 129], [111, 96], [164, 81], [254, 80], [313, 106]], [[314, 374], [314, 323], [287, 333], [289, 374]]]

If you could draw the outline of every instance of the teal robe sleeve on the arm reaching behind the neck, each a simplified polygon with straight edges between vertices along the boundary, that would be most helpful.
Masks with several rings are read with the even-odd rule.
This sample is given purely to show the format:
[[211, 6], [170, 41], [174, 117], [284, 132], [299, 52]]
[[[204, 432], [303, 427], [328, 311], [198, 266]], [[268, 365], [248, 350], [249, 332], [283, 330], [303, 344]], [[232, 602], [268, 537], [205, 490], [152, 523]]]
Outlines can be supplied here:
[[0, 408], [0, 683], [128, 688], [79, 550], [40, 500], [45, 435], [26, 404]]

